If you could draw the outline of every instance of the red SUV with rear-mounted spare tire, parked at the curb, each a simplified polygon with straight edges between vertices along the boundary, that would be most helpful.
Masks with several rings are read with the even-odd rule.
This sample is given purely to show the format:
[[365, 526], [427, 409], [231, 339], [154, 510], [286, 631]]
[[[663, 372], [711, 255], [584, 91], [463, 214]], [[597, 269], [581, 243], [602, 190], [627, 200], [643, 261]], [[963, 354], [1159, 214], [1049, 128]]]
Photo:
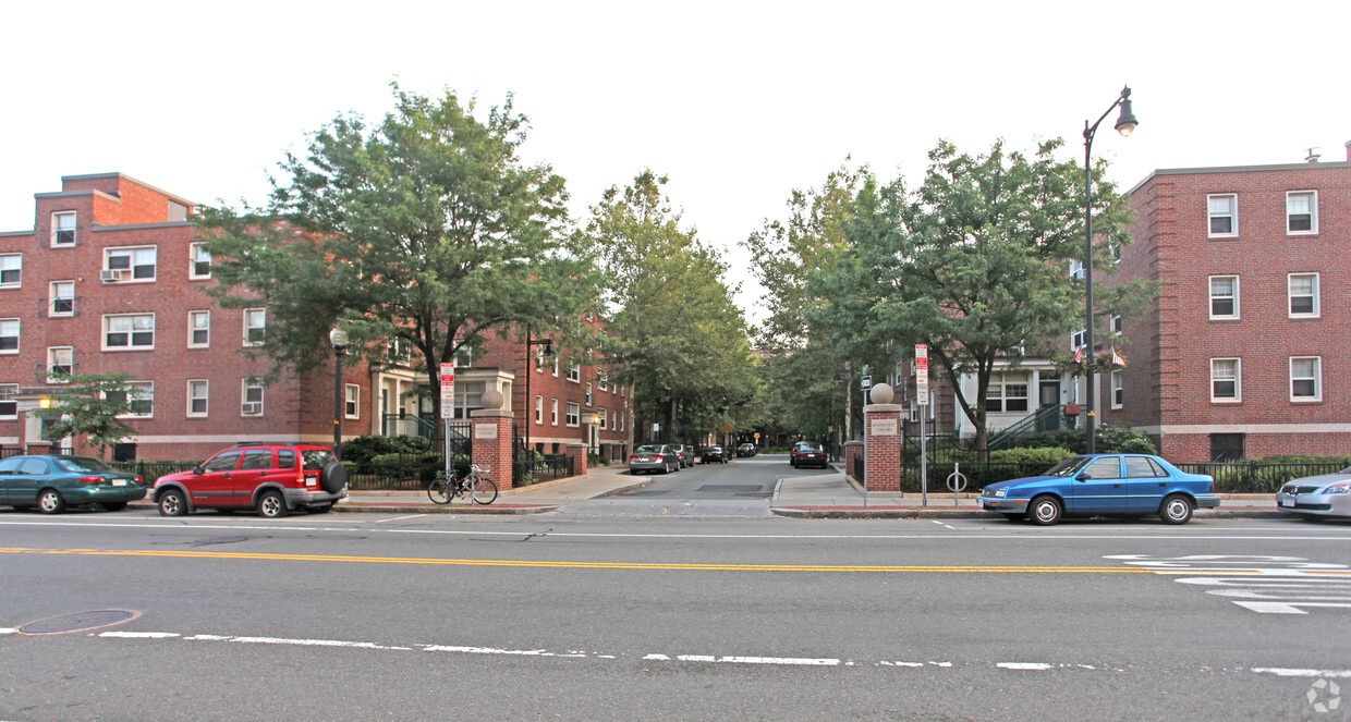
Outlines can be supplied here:
[[322, 514], [347, 498], [347, 470], [324, 447], [235, 444], [192, 471], [161, 476], [153, 498], [165, 517], [196, 509], [253, 509], [265, 517], [285, 517], [296, 509]]

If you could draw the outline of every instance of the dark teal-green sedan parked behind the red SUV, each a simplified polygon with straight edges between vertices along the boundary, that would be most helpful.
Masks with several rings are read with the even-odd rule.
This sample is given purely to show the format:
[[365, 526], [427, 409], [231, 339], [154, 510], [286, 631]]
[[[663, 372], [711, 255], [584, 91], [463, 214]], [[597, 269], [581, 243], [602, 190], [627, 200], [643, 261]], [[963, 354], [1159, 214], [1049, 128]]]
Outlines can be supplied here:
[[88, 456], [11, 456], [0, 460], [0, 505], [59, 514], [97, 503], [120, 511], [146, 497], [146, 480]]

